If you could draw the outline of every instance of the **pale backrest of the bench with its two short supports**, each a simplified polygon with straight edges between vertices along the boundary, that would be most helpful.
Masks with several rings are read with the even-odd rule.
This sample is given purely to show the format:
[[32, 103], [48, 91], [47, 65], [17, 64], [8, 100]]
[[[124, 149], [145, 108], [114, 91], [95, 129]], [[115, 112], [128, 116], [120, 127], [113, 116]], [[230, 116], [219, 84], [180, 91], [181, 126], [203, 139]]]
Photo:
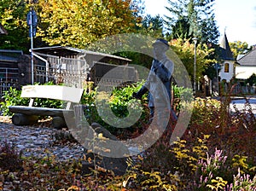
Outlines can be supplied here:
[[[67, 102], [79, 103], [84, 90], [61, 85], [26, 85], [22, 87], [21, 97], [26, 98], [47, 98]], [[29, 106], [32, 107], [32, 101]], [[70, 104], [67, 104], [69, 109]]]

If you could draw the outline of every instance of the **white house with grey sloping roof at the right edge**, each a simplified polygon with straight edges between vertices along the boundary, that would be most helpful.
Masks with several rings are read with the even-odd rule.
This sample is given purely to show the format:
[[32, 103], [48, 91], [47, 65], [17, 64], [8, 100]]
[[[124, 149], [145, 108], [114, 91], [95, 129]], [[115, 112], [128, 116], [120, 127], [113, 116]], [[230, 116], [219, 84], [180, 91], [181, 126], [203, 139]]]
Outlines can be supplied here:
[[250, 78], [253, 73], [256, 74], [256, 49], [247, 52], [246, 55], [240, 55], [236, 61], [236, 78], [245, 80]]

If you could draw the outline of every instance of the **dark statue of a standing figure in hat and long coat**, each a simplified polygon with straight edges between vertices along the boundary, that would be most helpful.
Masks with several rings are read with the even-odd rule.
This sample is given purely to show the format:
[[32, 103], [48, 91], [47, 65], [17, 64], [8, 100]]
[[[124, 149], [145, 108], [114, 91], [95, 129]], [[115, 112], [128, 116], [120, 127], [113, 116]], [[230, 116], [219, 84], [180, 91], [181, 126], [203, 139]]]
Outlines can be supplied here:
[[[133, 97], [141, 99], [142, 96], [149, 90], [148, 107], [150, 111], [151, 122], [153, 120], [155, 110], [159, 119], [163, 113], [170, 113], [172, 121], [177, 121], [177, 116], [171, 108], [171, 78], [174, 69], [174, 64], [166, 56], [166, 51], [169, 49], [169, 44], [164, 39], [157, 39], [153, 43], [154, 60], [148, 74], [147, 81], [143, 87], [133, 94]], [[155, 108], [157, 107], [157, 109]]]

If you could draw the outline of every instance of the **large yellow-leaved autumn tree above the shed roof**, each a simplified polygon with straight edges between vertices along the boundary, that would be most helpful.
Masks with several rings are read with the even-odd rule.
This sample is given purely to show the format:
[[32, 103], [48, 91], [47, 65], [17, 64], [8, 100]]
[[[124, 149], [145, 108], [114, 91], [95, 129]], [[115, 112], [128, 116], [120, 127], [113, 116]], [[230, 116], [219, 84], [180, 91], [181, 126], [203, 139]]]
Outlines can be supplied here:
[[132, 32], [137, 11], [130, 0], [45, 0], [38, 9], [45, 42], [80, 49], [100, 38]]

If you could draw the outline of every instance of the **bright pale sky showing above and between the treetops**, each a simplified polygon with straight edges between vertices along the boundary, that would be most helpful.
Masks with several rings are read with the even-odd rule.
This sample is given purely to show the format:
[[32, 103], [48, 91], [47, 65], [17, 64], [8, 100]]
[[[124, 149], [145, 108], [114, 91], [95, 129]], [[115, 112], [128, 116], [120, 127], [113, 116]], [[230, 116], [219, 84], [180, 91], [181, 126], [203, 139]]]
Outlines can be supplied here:
[[[165, 9], [167, 0], [145, 0], [146, 14], [169, 14]], [[215, 20], [220, 33], [219, 43], [226, 32], [229, 42], [241, 41], [256, 44], [256, 1], [215, 0]]]

